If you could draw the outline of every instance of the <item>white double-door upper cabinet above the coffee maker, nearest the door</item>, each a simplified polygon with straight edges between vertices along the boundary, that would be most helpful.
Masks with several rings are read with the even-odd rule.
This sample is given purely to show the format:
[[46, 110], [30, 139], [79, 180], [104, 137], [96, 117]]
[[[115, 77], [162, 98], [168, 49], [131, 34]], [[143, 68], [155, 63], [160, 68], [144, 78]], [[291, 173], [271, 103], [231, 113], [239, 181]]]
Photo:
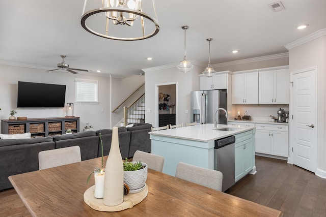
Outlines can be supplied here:
[[259, 72], [259, 104], [289, 104], [289, 69]]

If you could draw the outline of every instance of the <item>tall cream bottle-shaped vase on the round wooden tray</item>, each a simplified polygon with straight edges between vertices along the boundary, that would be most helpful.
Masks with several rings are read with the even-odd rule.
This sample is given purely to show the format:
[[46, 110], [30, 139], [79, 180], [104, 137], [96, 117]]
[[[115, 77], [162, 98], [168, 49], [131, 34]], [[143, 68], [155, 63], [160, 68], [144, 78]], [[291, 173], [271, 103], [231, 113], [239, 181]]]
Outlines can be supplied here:
[[119, 148], [118, 128], [112, 131], [110, 153], [108, 153], [105, 175], [103, 203], [117, 206], [123, 202], [123, 162]]

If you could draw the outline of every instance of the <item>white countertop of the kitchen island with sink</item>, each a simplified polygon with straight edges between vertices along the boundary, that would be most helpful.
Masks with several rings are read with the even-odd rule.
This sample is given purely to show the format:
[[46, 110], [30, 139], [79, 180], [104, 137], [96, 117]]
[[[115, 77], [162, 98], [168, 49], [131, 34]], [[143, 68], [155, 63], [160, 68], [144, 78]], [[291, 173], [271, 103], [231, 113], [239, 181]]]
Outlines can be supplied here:
[[[234, 131], [213, 130], [213, 129], [220, 129], [220, 128], [238, 128], [238, 130], [234, 130]], [[149, 132], [149, 134], [155, 136], [164, 136], [164, 137], [171, 137], [171, 138], [178, 138], [178, 139], [195, 140], [200, 142], [209, 142], [215, 139], [222, 139], [224, 137], [235, 135], [252, 129], [255, 129], [255, 127], [218, 125], [217, 128], [214, 128], [214, 125], [212, 123], [206, 123], [204, 125], [153, 131], [153, 132]]]

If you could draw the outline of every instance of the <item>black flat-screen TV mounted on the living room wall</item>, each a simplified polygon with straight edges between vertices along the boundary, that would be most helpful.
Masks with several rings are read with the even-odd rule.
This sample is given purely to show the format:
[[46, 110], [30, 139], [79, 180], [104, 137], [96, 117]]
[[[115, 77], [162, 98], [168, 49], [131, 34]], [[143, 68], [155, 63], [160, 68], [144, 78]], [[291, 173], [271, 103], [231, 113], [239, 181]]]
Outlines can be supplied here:
[[17, 107], [65, 107], [66, 85], [18, 81]]

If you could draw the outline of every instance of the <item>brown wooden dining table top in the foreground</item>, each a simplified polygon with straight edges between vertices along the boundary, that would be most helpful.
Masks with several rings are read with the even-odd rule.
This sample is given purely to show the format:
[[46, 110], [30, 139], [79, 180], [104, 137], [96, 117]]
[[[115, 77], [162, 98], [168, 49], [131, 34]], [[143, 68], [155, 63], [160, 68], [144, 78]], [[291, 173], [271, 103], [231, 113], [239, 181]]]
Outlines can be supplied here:
[[[106, 162], [106, 158], [104, 159]], [[281, 211], [148, 169], [148, 195], [119, 212], [101, 212], [84, 202], [94, 185], [87, 177], [100, 158], [9, 177], [33, 216], [282, 216]]]

